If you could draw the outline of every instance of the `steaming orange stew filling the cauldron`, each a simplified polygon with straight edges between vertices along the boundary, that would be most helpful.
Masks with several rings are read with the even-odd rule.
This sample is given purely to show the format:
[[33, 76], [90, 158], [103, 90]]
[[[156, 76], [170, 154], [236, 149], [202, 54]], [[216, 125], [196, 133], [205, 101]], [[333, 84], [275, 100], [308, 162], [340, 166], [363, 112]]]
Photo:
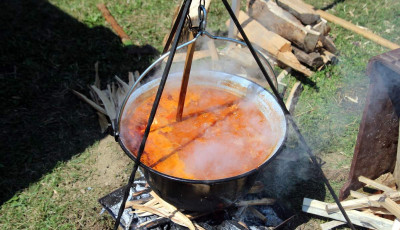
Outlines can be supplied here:
[[[164, 90], [141, 161], [167, 175], [193, 180], [237, 176], [260, 166], [278, 141], [253, 97], [189, 86], [176, 122], [179, 87]], [[127, 107], [121, 138], [137, 154], [154, 96]], [[274, 119], [271, 119], [272, 121]]]

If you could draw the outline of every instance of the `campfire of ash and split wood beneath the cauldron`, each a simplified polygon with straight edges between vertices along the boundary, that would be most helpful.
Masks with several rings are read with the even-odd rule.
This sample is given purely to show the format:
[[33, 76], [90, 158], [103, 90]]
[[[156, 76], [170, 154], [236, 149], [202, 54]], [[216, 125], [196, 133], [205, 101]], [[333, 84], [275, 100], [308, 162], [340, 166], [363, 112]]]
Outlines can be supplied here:
[[[142, 174], [143, 175], [143, 174]], [[150, 189], [142, 176], [130, 189], [129, 201], [121, 219], [124, 229], [150, 229], [171, 225], [189, 229], [277, 229], [291, 218], [293, 213], [275, 199], [262, 197], [264, 185], [258, 181], [249, 194], [232, 207], [208, 212], [179, 210], [160, 198]], [[122, 202], [123, 188], [99, 199], [113, 218], [117, 217]], [[178, 228], [179, 229], [179, 228]]]

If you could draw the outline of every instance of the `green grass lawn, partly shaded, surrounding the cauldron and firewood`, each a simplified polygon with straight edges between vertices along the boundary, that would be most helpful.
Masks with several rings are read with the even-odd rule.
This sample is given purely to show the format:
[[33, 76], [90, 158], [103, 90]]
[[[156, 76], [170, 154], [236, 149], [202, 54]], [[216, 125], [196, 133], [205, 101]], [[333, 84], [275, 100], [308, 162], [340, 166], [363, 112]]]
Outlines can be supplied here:
[[[130, 47], [104, 22], [99, 2], [0, 3], [0, 19], [7, 22], [0, 25], [0, 95], [5, 99], [0, 102], [0, 229], [108, 229], [113, 224], [99, 214], [97, 199], [127, 182], [132, 163], [112, 137], [100, 134], [96, 113], [70, 89], [88, 92], [97, 61], [103, 84], [114, 75], [127, 79], [128, 71], [143, 71], [161, 52], [180, 1], [108, 1], [134, 41]], [[398, 0], [338, 1], [328, 12], [400, 44]], [[214, 0], [208, 27], [225, 31], [227, 19], [222, 3]], [[368, 89], [367, 62], [388, 49], [330, 25], [340, 61], [313, 75], [314, 84], [304, 85], [294, 116], [339, 191]], [[332, 201], [329, 194], [324, 197]]]

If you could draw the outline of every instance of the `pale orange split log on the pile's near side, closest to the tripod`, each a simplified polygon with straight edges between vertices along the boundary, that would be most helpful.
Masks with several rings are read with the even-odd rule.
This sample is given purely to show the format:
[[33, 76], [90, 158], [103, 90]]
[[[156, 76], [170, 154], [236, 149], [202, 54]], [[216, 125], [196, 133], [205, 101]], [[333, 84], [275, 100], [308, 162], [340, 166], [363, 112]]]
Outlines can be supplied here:
[[300, 64], [291, 52], [290, 42], [269, 31], [259, 22], [251, 19], [245, 12], [239, 12], [239, 22], [251, 42], [266, 50], [272, 57], [292, 69], [311, 76], [313, 72]]

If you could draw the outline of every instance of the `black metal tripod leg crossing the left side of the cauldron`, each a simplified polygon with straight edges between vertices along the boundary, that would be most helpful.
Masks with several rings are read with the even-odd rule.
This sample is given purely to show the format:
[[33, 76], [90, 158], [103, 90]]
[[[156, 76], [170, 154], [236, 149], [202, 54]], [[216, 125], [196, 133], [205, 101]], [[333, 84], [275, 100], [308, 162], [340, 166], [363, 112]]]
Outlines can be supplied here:
[[154, 117], [156, 115], [157, 108], [158, 108], [158, 105], [159, 105], [160, 100], [161, 100], [161, 95], [163, 93], [163, 90], [164, 90], [164, 87], [165, 87], [165, 83], [167, 81], [168, 74], [169, 74], [169, 71], [171, 69], [171, 65], [172, 65], [172, 61], [173, 61], [174, 56], [175, 56], [176, 48], [178, 47], [179, 37], [181, 36], [182, 30], [183, 30], [183, 26], [184, 26], [184, 23], [185, 23], [185, 19], [186, 19], [186, 15], [189, 12], [189, 8], [190, 8], [190, 4], [191, 3], [192, 3], [192, 0], [185, 0], [184, 3], [183, 3], [184, 9], [183, 9], [183, 14], [181, 15], [181, 18], [179, 18], [179, 25], [178, 25], [178, 29], [176, 31], [177, 32], [177, 36], [175, 36], [175, 38], [174, 38], [174, 42], [172, 44], [171, 52], [169, 54], [167, 64], [165, 66], [163, 75], [161, 77], [160, 85], [159, 85], [158, 90], [157, 90], [156, 98], [154, 99], [153, 107], [151, 108], [151, 112], [150, 112], [150, 115], [149, 115], [149, 120], [147, 122], [146, 129], [145, 129], [144, 134], [143, 134], [142, 142], [140, 143], [140, 147], [139, 147], [139, 150], [138, 150], [138, 153], [137, 153], [136, 161], [135, 161], [135, 164], [133, 166], [132, 173], [131, 173], [131, 175], [129, 177], [128, 185], [126, 186], [125, 191], [124, 191], [124, 197], [122, 199], [122, 203], [121, 203], [121, 206], [119, 208], [118, 217], [117, 217], [117, 219], [115, 221], [114, 230], [118, 229], [118, 226], [119, 226], [120, 221], [121, 221], [122, 213], [124, 212], [124, 209], [125, 209], [126, 200], [128, 199], [128, 196], [129, 196], [130, 188], [132, 187], [133, 181], [135, 180], [135, 174], [136, 174], [136, 171], [137, 171], [137, 169], [139, 167], [139, 164], [140, 164], [140, 158], [142, 157], [142, 154], [144, 152], [146, 141], [147, 141], [147, 138], [148, 138], [149, 133], [150, 133], [150, 128], [151, 128], [151, 125], [153, 124]]

